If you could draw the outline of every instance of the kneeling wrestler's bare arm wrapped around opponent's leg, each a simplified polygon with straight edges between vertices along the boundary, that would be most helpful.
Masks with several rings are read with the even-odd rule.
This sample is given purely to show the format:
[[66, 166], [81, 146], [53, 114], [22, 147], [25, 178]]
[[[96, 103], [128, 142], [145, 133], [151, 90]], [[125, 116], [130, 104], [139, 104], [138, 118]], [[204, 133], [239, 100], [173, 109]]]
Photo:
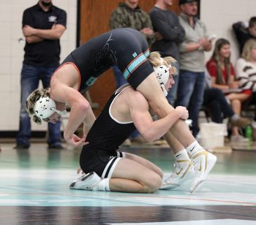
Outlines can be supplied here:
[[148, 141], [162, 137], [179, 118], [187, 119], [188, 112], [185, 107], [177, 107], [164, 118], [153, 121], [149, 113], [149, 105], [145, 97], [138, 91], [129, 95], [129, 111], [132, 121], [140, 134]]

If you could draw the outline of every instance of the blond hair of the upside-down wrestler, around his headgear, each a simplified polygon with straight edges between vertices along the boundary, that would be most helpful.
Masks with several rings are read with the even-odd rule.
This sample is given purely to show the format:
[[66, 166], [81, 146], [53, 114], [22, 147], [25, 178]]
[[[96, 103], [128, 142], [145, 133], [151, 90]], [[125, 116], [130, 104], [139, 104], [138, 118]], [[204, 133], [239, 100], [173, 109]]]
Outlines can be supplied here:
[[34, 106], [41, 97], [50, 97], [50, 88], [37, 89], [33, 91], [26, 99], [26, 111], [29, 113], [29, 116], [33, 118], [33, 121], [37, 124], [41, 124], [42, 120], [34, 114]]

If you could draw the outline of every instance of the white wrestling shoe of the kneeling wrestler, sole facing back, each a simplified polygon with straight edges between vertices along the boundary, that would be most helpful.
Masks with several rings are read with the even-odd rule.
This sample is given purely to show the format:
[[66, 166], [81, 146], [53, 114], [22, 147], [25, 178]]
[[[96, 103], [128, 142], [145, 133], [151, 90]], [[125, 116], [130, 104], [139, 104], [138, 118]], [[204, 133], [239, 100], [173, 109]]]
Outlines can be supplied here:
[[89, 172], [86, 175], [74, 180], [70, 184], [69, 188], [92, 191], [100, 180], [102, 180], [102, 178], [100, 178], [96, 172]]

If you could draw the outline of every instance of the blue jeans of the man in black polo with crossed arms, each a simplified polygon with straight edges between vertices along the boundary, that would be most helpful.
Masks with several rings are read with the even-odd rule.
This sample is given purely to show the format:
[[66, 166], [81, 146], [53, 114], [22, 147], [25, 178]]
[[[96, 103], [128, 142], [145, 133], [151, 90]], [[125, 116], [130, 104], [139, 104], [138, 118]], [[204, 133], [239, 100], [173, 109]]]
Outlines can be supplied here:
[[[50, 86], [50, 77], [56, 70], [55, 67], [44, 67], [44, 66], [30, 66], [23, 64], [21, 71], [21, 99], [20, 99], [20, 125], [16, 142], [18, 145], [29, 144], [29, 138], [31, 137], [31, 123], [29, 114], [26, 112], [26, 99], [32, 91], [38, 88], [39, 80], [42, 80], [44, 88]], [[61, 122], [48, 123], [48, 144], [59, 145], [61, 143]]]

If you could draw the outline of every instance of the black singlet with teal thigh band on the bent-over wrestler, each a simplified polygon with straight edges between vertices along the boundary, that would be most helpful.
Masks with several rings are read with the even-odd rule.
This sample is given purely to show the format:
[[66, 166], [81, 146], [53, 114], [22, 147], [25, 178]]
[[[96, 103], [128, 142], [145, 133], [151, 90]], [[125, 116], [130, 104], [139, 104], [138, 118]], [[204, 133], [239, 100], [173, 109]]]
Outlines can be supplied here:
[[80, 71], [80, 93], [94, 84], [111, 66], [118, 66], [127, 82], [136, 89], [148, 75], [154, 72], [146, 60], [148, 43], [140, 31], [132, 28], [117, 28], [90, 39], [64, 59]]

